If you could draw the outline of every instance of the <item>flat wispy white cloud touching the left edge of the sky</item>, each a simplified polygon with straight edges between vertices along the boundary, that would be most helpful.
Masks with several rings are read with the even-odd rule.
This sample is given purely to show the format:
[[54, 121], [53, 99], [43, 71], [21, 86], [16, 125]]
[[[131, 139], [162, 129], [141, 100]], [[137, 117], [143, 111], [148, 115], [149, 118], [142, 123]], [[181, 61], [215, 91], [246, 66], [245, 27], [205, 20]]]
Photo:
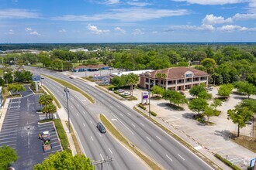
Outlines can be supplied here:
[[6, 8], [1, 9], [0, 19], [36, 19], [39, 15], [36, 12], [29, 12], [26, 9]]

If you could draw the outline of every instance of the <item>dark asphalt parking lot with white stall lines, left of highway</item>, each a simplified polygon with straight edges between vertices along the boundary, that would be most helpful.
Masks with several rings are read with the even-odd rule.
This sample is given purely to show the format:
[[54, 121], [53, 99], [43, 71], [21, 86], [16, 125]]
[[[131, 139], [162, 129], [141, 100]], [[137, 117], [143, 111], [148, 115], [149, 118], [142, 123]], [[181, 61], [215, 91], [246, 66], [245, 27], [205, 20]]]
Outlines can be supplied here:
[[[40, 109], [38, 104], [40, 94], [33, 94], [26, 86], [26, 92], [21, 92], [22, 97], [11, 99], [5, 114], [5, 119], [0, 131], [0, 147], [8, 145], [18, 154], [18, 160], [12, 167], [16, 170], [33, 169], [33, 166], [43, 162], [51, 153], [61, 151], [60, 141], [54, 124], [38, 124]], [[41, 140], [38, 139], [40, 131], [50, 131], [52, 149], [43, 152]]]

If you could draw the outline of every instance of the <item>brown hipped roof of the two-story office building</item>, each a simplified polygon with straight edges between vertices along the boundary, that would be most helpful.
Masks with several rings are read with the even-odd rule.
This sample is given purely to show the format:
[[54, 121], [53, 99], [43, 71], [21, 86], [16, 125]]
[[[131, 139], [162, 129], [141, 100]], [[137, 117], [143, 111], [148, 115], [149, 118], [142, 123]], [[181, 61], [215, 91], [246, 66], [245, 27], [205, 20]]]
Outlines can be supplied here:
[[194, 68], [185, 67], [185, 66], [171, 67], [171, 68], [164, 69], [164, 70], [155, 70], [155, 71], [148, 72], [148, 73], [150, 73], [151, 78], [155, 78], [157, 73], [164, 73], [168, 80], [175, 80], [175, 79], [184, 79], [185, 73], [187, 71], [191, 71], [192, 73], [194, 73], [194, 76], [208, 76], [209, 75], [208, 73], [206, 73], [204, 71], [196, 70]]

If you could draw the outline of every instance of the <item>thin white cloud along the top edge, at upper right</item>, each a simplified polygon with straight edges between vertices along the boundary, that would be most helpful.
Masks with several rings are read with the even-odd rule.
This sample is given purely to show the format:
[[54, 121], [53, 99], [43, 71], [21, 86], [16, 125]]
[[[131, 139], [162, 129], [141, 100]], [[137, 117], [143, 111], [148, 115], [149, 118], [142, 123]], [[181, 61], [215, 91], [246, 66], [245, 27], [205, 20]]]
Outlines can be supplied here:
[[199, 5], [225, 5], [225, 4], [251, 2], [253, 0], [173, 0], [173, 1], [187, 2], [189, 4], [199, 4]]

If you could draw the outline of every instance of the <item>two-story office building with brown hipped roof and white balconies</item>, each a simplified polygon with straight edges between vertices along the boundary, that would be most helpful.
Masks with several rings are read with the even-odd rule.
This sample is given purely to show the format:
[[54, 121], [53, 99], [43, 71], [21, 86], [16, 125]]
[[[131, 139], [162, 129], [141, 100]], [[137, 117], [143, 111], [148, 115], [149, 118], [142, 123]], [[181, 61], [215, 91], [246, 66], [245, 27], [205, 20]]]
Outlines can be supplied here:
[[[164, 76], [156, 77], [157, 73]], [[178, 66], [140, 74], [140, 87], [150, 89], [158, 85], [164, 87], [165, 90], [188, 90], [200, 83], [208, 86], [208, 80], [209, 74], [204, 71]]]

